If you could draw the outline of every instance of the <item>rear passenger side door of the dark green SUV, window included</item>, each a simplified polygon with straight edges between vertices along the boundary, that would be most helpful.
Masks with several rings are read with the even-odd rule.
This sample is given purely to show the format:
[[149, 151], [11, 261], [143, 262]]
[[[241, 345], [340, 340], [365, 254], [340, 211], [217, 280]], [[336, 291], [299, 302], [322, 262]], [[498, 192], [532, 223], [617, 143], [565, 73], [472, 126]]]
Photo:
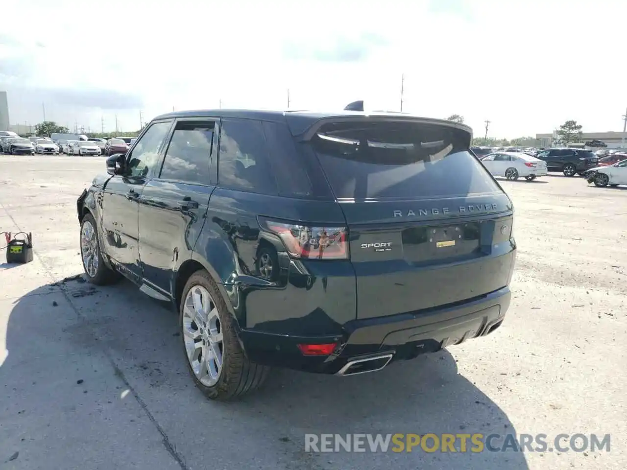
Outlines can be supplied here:
[[145, 185], [140, 197], [144, 282], [165, 295], [174, 293], [174, 271], [191, 258], [203, 229], [214, 189], [210, 160], [217, 128], [213, 120], [177, 120], [161, 172]]

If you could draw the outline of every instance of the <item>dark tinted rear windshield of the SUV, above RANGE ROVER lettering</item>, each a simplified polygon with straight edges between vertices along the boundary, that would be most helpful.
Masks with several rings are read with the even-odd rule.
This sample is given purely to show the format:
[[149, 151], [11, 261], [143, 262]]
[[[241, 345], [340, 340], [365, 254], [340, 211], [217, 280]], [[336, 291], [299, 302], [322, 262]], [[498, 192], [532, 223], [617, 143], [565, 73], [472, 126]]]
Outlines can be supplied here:
[[500, 191], [464, 130], [412, 122], [326, 125], [312, 139], [339, 199], [453, 197]]

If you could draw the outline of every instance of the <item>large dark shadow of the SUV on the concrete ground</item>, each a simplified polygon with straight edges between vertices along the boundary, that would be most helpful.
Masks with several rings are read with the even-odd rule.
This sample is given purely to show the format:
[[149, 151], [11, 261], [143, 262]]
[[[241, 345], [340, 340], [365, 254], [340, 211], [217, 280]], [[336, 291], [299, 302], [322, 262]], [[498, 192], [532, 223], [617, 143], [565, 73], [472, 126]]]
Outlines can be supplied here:
[[[211, 459], [238, 467], [259, 458], [267, 461], [260, 464], [263, 468], [270, 463], [277, 469], [374, 470], [386, 467], [393, 457], [394, 466], [402, 469], [529, 468], [523, 452], [470, 452], [470, 438], [466, 452], [415, 448], [399, 454], [305, 452], [305, 434], [498, 434], [502, 439], [496, 439], [495, 446], [502, 445], [506, 434], [516, 436], [507, 414], [459, 372], [448, 350], [353, 377], [272, 370], [268, 382], [254, 394], [236, 402], [211, 402], [194, 387], [187, 373], [177, 315], [156, 306], [164, 304], [149, 300], [127, 281], [97, 287], [80, 276], [41, 286], [16, 300], [6, 329], [8, 355], [4, 363], [0, 357], [6, 413], [14, 412], [15, 417], [3, 424], [0, 441], [10, 438], [11, 445], [23, 449], [24, 454], [39, 452], [38, 442], [45, 441], [47, 449], [58, 449], [55, 458], [70, 458], [67, 467], [78, 463], [72, 459], [82, 458], [75, 455], [81, 452], [64, 444], [79, 432], [86, 433], [76, 439], [88, 446], [89, 458], [95, 458], [90, 453], [93, 449], [111, 450], [112, 442], [119, 446], [113, 434], [119, 432], [115, 419], [103, 420], [102, 410], [78, 405], [85, 397], [80, 393], [84, 385], [78, 392], [65, 390], [75, 390], [76, 379], [82, 382], [85, 378], [85, 382], [102, 380], [105, 384], [98, 390], [112, 393], [97, 397], [99, 409], [113, 406], [107, 405], [107, 400], [111, 404], [115, 402], [112, 397], [119, 396], [120, 390], [115, 389], [120, 386], [113, 385], [124, 388], [121, 380], [130, 384], [137, 402], [159, 423], [189, 467], [203, 467]], [[102, 367], [97, 374], [90, 370], [101, 354], [115, 362], [105, 376]], [[88, 362], [87, 367], [82, 362]], [[490, 368], [483, 373], [497, 374]], [[28, 426], [36, 429], [24, 427], [26, 421], [18, 417], [24, 410], [33, 415]], [[85, 422], [90, 423], [87, 428]], [[221, 427], [216, 428], [218, 425]], [[208, 437], [211, 429], [218, 434]], [[38, 440], [20, 442], [19, 437], [28, 432], [36, 432]], [[93, 441], [90, 432], [95, 434]], [[139, 436], [137, 441], [145, 437]], [[135, 446], [135, 437], [130, 441], [127, 445]], [[224, 461], [227, 458], [231, 460]], [[292, 463], [286, 464], [285, 459]], [[49, 463], [55, 467], [56, 462]]]

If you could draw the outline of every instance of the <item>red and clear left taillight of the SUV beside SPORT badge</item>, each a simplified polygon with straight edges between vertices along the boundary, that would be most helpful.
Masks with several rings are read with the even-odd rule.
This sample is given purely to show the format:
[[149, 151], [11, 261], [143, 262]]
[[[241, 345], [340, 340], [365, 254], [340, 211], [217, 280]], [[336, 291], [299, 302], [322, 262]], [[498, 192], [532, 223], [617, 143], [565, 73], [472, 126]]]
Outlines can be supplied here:
[[278, 235], [292, 258], [348, 259], [346, 227], [305, 226], [260, 219], [262, 226]]

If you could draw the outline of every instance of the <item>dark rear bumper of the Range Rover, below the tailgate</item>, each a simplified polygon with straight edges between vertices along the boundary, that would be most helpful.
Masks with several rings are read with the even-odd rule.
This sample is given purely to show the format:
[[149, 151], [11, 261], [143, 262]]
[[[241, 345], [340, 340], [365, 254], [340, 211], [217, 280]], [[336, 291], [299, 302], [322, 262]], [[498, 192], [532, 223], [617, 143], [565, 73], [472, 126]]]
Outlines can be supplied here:
[[[439, 308], [352, 320], [345, 323], [341, 335], [333, 337], [297, 337], [243, 330], [240, 338], [253, 362], [333, 374], [354, 360], [388, 354], [393, 361], [410, 359], [486, 336], [502, 324], [510, 299], [510, 290], [504, 287]], [[297, 346], [335, 342], [339, 345], [334, 353], [321, 357], [305, 356]]]

